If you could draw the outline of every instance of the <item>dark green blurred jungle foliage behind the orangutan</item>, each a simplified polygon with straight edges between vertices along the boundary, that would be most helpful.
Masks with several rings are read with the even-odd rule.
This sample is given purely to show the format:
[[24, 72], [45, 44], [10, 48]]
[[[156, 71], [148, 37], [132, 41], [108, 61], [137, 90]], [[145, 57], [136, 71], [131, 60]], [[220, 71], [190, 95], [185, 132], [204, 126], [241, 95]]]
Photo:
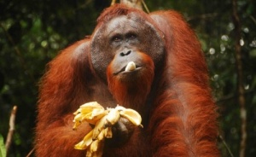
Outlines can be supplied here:
[[[9, 132], [11, 110], [15, 105], [18, 107], [8, 156], [23, 157], [33, 148], [38, 81], [45, 65], [61, 49], [90, 35], [97, 16], [110, 3], [110, 0], [0, 0], [2, 144]], [[150, 12], [179, 11], [195, 29], [206, 55], [212, 96], [218, 105], [221, 135], [218, 147], [222, 156], [256, 156], [256, 1], [145, 0], [145, 3]]]

